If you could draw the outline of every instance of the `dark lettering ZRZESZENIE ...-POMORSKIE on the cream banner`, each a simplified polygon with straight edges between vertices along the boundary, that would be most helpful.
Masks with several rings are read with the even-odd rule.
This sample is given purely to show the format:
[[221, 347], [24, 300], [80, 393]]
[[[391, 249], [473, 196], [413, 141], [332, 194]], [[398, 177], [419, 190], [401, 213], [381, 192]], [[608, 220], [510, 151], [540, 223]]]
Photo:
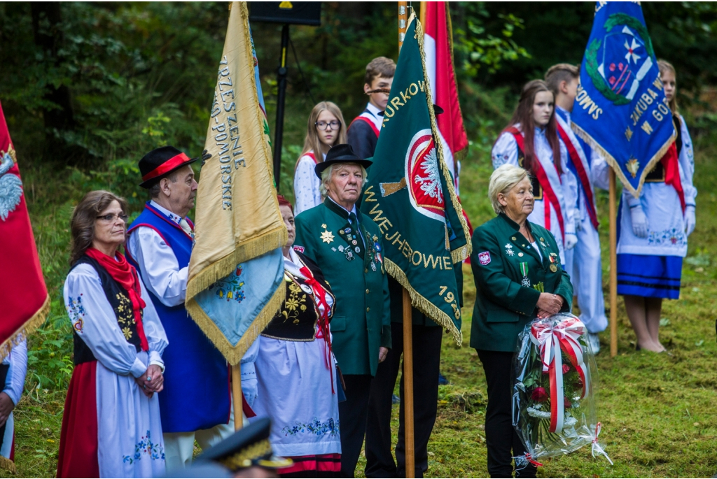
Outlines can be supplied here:
[[[219, 74], [217, 74], [217, 89], [214, 90], [214, 104], [212, 104], [212, 118], [214, 118], [214, 141], [217, 142], [219, 156], [219, 173], [222, 178], [222, 209], [232, 209], [232, 164], [238, 170], [239, 165], [246, 168], [244, 151], [239, 143], [239, 125], [237, 124], [237, 104], [234, 103], [234, 89], [232, 88], [232, 77], [229, 72], [227, 55], [219, 62]], [[222, 65], [227, 65], [222, 67]], [[227, 89], [229, 87], [229, 89]], [[219, 98], [222, 105], [219, 106]], [[224, 112], [224, 115], [220, 115]], [[224, 122], [219, 122], [219, 117], [224, 117]]]

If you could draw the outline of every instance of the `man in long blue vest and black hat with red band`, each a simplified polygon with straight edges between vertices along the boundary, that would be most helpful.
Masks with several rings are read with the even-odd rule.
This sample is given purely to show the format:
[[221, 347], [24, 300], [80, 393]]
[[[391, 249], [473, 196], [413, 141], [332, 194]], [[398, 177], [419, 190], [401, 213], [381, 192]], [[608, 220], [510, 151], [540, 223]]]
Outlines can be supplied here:
[[[175, 147], [147, 153], [139, 162], [149, 190], [141, 215], [128, 230], [127, 256], [146, 285], [169, 341], [159, 405], [167, 470], [191, 463], [194, 440], [209, 447], [234, 432], [226, 359], [184, 308], [197, 183], [189, 158]], [[153, 364], [153, 363], [152, 363]]]

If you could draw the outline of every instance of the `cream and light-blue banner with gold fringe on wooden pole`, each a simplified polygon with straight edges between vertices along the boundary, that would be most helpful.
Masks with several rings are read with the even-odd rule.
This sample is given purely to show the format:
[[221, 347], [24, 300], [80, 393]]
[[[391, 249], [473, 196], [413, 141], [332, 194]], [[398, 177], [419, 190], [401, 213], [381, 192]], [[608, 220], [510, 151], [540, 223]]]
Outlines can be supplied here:
[[239, 429], [239, 362], [285, 299], [281, 248], [287, 231], [272, 177], [247, 2], [234, 1], [229, 8], [205, 143], [212, 157], [202, 165], [196, 195], [186, 309], [232, 365], [234, 426]]

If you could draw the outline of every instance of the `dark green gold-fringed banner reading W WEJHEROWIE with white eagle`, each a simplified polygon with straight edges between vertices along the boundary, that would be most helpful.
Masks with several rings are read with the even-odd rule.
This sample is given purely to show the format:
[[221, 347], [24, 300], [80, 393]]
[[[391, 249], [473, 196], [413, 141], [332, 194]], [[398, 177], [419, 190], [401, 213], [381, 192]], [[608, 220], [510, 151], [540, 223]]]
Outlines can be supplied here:
[[470, 256], [470, 238], [443, 160], [428, 75], [423, 29], [409, 19], [361, 213], [384, 235], [384, 264], [420, 311], [457, 344], [460, 298], [455, 267]]

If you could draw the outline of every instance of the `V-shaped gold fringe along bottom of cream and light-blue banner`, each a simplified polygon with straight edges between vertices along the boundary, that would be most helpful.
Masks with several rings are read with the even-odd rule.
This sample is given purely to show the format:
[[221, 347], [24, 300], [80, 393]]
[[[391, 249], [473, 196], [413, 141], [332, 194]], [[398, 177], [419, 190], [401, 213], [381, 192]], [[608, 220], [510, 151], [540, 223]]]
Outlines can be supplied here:
[[267, 301], [267, 304], [262, 308], [259, 314], [255, 317], [252, 324], [247, 328], [247, 331], [242, 334], [242, 338], [236, 345], [231, 344], [224, 333], [217, 326], [217, 324], [206, 315], [201, 306], [196, 302], [196, 299], [186, 301], [186, 310], [191, 314], [191, 318], [199, 326], [202, 332], [209, 338], [209, 341], [214, 344], [219, 352], [227, 359], [229, 364], [232, 366], [239, 364], [239, 361], [244, 357], [244, 353], [252, 345], [252, 343], [259, 337], [264, 331], [266, 326], [269, 325], [275, 314], [281, 309], [281, 305], [286, 299], [286, 283], [281, 281], [279, 287], [274, 291], [272, 297]]

